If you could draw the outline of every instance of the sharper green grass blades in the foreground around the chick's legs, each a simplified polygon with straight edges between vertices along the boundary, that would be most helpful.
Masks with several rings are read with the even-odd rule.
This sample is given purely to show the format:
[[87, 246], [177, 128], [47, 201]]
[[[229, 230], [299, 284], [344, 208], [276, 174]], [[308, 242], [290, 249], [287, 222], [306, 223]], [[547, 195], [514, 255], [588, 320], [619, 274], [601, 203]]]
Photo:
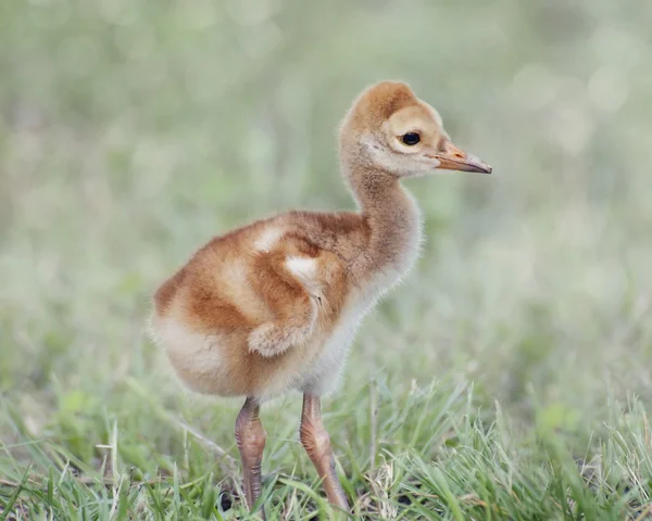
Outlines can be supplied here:
[[[33, 439], [15, 411], [4, 411], [21, 440], [3, 447], [5, 514], [247, 519], [234, 480], [233, 442], [220, 447], [210, 432], [141, 395], [137, 383], [126, 386], [133, 401], [146, 401], [150, 416], [160, 417], [159, 432], [165, 432], [170, 449], [154, 449], [156, 435], [148, 440], [134, 429], [139, 410], [122, 411], [124, 422], [90, 411], [87, 435], [104, 443], [95, 443], [87, 458], [75, 454], [70, 440]], [[500, 409], [478, 410], [465, 384], [397, 392], [396, 385], [390, 391], [378, 382], [352, 398], [333, 407], [326, 423], [337, 433], [343, 486], [355, 498], [353, 519], [647, 519], [652, 511], [652, 439], [638, 401], [613, 404], [612, 420], [584, 443], [546, 424], [515, 435]], [[263, 417], [273, 432], [264, 482], [267, 514], [330, 519], [294, 429], [279, 418], [286, 405], [294, 404]], [[201, 410], [208, 416], [212, 408]]]

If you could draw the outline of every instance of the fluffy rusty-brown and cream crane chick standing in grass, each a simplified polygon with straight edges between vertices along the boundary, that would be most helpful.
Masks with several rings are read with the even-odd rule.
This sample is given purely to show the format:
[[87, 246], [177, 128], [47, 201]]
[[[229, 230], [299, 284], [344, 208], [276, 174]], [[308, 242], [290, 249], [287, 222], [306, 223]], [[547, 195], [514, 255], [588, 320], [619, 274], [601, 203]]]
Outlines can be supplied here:
[[338, 387], [363, 317], [419, 255], [421, 213], [402, 181], [441, 170], [491, 173], [452, 143], [439, 113], [400, 80], [358, 94], [338, 145], [355, 211], [253, 220], [197, 250], [153, 294], [150, 334], [183, 384], [244, 398], [235, 437], [250, 510], [262, 490], [261, 406], [290, 391], [303, 394], [299, 437], [327, 499], [349, 510], [322, 397]]

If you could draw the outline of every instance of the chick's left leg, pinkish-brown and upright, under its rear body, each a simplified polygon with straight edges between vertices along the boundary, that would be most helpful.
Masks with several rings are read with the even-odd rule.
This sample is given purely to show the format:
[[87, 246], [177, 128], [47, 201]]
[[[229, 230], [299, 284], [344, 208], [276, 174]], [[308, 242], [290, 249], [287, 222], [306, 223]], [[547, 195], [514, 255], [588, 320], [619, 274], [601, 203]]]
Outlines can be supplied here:
[[[242, 460], [242, 476], [247, 505], [251, 510], [261, 495], [261, 463], [267, 433], [259, 417], [260, 405], [248, 397], [236, 420], [236, 443]], [[263, 511], [263, 519], [265, 512]]]

